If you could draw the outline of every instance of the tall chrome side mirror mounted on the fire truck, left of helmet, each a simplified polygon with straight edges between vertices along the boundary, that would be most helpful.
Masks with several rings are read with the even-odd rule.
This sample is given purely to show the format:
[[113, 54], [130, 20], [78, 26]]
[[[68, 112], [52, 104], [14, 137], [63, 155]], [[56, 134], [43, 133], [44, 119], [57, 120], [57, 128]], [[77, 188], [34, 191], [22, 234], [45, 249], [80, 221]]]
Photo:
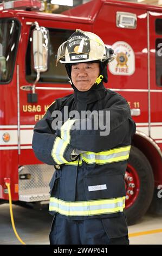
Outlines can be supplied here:
[[36, 26], [32, 34], [32, 47], [33, 53], [33, 68], [40, 74], [40, 72], [46, 72], [48, 69], [48, 44], [49, 35], [48, 29], [40, 26]]

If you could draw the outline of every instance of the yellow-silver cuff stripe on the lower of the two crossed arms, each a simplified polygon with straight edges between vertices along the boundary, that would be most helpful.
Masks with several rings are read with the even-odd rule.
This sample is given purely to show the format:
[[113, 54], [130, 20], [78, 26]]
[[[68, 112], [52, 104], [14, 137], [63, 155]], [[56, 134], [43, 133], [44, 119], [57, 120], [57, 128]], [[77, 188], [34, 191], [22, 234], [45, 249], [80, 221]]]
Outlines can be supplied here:
[[51, 156], [57, 164], [69, 163], [64, 159], [63, 154], [67, 148], [68, 143], [63, 141], [60, 137], [56, 137], [51, 151]]

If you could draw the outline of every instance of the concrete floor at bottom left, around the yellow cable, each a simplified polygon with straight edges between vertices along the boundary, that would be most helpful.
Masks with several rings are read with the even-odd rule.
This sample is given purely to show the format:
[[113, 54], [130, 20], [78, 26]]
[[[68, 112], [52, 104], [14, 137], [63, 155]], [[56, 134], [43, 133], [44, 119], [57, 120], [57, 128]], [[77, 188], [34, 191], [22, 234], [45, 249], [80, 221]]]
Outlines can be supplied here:
[[[27, 245], [48, 245], [52, 216], [48, 209], [33, 210], [12, 205], [18, 235]], [[12, 229], [9, 204], [0, 205], [0, 244], [21, 245]]]

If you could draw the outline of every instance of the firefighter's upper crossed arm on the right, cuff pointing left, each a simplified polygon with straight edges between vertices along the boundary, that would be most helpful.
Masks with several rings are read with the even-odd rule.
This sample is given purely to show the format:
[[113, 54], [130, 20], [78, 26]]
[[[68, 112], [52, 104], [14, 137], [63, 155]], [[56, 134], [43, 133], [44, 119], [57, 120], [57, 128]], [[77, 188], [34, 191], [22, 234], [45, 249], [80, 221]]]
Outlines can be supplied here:
[[[112, 100], [112, 102], [110, 102]], [[106, 120], [104, 115], [110, 111], [109, 116], [109, 134], [105, 135], [103, 130], [98, 127], [98, 129], [89, 130], [88, 122], [92, 119], [69, 119], [61, 126], [61, 129], [57, 129], [56, 133], [63, 140], [72, 145], [73, 148], [84, 151], [91, 151], [98, 153], [100, 151], [105, 151], [112, 149], [118, 145], [130, 144], [132, 135], [135, 132], [135, 123], [131, 118], [131, 112], [127, 101], [121, 97], [117, 96], [110, 99], [109, 105], [103, 109], [103, 111], [96, 111], [96, 116], [92, 116], [94, 119]], [[101, 116], [102, 115], [102, 118]], [[77, 129], [70, 129], [75, 125]], [[82, 129], [86, 127], [86, 129]], [[126, 139], [127, 142], [126, 142]]]

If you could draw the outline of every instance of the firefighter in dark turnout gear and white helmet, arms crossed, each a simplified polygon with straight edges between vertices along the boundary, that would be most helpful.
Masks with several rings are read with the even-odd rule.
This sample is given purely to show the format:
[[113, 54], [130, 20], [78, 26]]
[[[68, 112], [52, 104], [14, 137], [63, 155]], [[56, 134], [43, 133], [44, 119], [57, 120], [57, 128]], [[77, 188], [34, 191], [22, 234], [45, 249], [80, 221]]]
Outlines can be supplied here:
[[103, 86], [112, 59], [98, 35], [80, 29], [57, 51], [74, 94], [50, 105], [33, 136], [36, 157], [56, 169], [52, 245], [129, 243], [124, 175], [135, 123], [124, 97]]

